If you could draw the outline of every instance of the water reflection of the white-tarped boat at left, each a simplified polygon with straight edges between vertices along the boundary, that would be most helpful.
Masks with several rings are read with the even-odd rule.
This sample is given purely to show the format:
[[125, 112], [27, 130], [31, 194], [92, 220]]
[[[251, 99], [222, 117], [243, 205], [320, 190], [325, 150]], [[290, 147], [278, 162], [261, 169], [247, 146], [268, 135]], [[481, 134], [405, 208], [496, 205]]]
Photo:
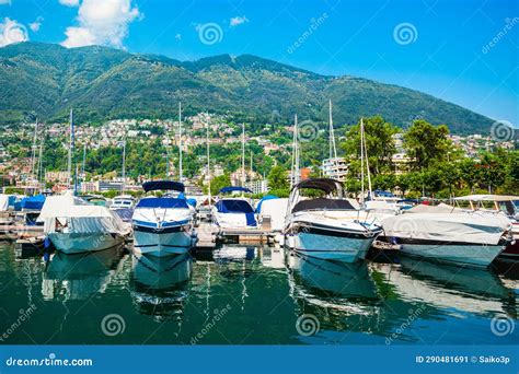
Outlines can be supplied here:
[[77, 255], [56, 252], [43, 276], [44, 299], [85, 300], [95, 293], [104, 293], [119, 270], [123, 255], [123, 246]]

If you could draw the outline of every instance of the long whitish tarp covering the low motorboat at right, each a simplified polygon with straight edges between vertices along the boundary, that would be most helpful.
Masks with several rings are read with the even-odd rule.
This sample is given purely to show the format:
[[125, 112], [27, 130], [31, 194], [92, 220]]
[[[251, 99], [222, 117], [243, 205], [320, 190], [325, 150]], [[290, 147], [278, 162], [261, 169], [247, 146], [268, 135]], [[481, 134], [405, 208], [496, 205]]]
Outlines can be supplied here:
[[405, 213], [382, 220], [382, 226], [392, 237], [496, 245], [511, 222], [478, 212]]

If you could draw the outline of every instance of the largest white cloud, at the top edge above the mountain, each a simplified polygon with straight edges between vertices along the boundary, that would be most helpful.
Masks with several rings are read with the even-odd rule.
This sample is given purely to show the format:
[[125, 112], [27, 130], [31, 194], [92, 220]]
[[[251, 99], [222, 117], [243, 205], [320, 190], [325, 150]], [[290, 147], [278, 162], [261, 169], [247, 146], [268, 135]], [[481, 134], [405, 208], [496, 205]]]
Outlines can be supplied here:
[[67, 27], [67, 38], [61, 43], [68, 48], [91, 45], [123, 47], [128, 25], [141, 16], [131, 0], [83, 0], [78, 10], [79, 26]]

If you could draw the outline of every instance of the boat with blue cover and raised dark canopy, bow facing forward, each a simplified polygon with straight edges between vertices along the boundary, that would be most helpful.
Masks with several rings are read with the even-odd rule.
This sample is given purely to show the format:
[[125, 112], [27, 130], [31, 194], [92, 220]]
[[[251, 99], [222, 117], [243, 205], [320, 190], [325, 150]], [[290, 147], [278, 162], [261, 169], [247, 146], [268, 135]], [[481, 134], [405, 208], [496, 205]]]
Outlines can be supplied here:
[[[145, 192], [154, 190], [183, 194], [180, 182], [152, 180], [142, 185]], [[149, 256], [172, 256], [187, 253], [195, 245], [197, 236], [195, 209], [185, 198], [165, 195], [145, 197], [137, 203], [131, 218], [134, 226], [134, 249]]]

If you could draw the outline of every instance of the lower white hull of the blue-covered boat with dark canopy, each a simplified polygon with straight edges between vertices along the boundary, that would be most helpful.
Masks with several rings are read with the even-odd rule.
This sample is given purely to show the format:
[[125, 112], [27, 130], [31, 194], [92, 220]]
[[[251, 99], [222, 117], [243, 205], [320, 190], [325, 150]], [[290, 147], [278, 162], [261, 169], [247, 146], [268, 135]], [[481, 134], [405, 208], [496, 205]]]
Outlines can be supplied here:
[[183, 255], [189, 252], [194, 238], [187, 230], [141, 231], [134, 229], [134, 250], [154, 257]]

